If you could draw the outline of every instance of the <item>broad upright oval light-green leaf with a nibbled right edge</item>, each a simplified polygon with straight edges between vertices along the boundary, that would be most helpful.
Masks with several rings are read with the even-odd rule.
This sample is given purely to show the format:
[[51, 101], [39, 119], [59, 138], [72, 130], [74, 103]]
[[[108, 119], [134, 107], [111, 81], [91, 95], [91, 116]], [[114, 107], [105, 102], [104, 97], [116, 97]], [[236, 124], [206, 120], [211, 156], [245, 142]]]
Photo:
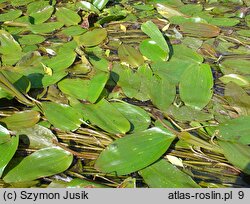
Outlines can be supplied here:
[[209, 65], [201, 64], [188, 67], [180, 81], [180, 96], [187, 106], [204, 108], [213, 92], [213, 75]]

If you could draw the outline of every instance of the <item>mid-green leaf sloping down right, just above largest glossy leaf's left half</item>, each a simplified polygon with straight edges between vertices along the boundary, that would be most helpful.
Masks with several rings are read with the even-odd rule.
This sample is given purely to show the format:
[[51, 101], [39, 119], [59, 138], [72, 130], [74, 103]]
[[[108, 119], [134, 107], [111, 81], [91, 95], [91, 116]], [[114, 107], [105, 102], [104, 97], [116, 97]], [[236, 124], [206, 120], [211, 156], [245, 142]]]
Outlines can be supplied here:
[[105, 99], [96, 104], [83, 105], [83, 111], [86, 119], [109, 133], [125, 134], [130, 130], [129, 121]]

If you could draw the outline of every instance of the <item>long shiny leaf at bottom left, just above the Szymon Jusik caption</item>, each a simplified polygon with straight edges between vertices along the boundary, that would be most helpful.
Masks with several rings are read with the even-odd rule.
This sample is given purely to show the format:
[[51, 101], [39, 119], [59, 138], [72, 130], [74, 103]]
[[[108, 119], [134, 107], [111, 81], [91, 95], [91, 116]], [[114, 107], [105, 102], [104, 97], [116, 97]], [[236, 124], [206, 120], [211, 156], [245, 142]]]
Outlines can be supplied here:
[[61, 148], [40, 149], [9, 170], [3, 180], [6, 183], [17, 183], [52, 176], [68, 169], [72, 160], [72, 154]]

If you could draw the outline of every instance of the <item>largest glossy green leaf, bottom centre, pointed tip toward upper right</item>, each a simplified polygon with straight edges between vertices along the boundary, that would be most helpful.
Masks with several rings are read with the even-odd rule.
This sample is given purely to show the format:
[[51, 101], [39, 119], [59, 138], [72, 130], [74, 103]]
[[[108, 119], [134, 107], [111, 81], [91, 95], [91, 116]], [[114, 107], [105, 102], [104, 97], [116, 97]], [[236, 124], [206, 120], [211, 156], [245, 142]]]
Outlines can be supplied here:
[[159, 159], [174, 138], [156, 127], [127, 135], [111, 143], [100, 154], [95, 168], [117, 175], [138, 171]]

